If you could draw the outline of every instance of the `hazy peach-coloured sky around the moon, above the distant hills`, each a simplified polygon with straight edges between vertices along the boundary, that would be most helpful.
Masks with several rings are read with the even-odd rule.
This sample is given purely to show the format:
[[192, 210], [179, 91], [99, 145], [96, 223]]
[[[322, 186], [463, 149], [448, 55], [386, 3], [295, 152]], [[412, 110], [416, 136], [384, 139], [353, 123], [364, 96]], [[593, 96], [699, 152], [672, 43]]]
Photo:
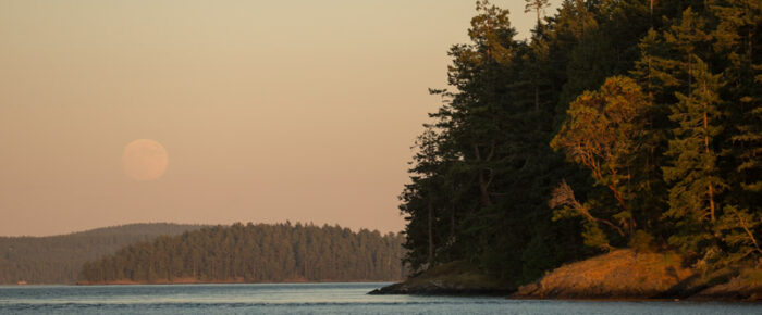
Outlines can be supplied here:
[[[526, 37], [524, 1], [493, 2]], [[445, 87], [474, 3], [0, 0], [0, 235], [401, 230], [410, 146], [439, 106], [427, 88]], [[165, 148], [158, 180], [125, 176], [136, 139]]]

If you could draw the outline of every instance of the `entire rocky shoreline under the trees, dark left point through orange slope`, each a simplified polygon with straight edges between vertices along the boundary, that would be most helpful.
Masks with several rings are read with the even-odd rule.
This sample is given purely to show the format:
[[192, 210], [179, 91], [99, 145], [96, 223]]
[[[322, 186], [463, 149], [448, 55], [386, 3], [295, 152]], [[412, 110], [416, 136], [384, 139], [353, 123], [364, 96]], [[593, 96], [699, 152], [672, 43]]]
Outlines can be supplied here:
[[727, 268], [702, 274], [674, 253], [617, 250], [509, 288], [462, 266], [437, 267], [369, 294], [502, 295], [527, 300], [762, 302], [762, 270]]

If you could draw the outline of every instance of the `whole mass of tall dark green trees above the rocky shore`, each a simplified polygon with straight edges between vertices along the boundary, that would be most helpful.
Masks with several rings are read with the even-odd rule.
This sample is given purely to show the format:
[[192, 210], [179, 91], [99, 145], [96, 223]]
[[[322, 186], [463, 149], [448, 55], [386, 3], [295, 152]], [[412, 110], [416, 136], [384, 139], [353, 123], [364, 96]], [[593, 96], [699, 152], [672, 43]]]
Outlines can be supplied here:
[[405, 262], [518, 285], [613, 248], [762, 257], [762, 1], [477, 1], [401, 194]]

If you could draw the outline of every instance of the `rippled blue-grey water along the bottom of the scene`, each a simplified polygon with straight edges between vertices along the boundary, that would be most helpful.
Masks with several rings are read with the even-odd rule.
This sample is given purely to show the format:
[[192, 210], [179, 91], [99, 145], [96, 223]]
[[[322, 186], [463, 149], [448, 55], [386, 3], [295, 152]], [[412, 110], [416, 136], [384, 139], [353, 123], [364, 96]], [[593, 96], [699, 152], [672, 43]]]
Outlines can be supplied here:
[[0, 314], [761, 314], [762, 304], [368, 295], [386, 284], [0, 287]]

